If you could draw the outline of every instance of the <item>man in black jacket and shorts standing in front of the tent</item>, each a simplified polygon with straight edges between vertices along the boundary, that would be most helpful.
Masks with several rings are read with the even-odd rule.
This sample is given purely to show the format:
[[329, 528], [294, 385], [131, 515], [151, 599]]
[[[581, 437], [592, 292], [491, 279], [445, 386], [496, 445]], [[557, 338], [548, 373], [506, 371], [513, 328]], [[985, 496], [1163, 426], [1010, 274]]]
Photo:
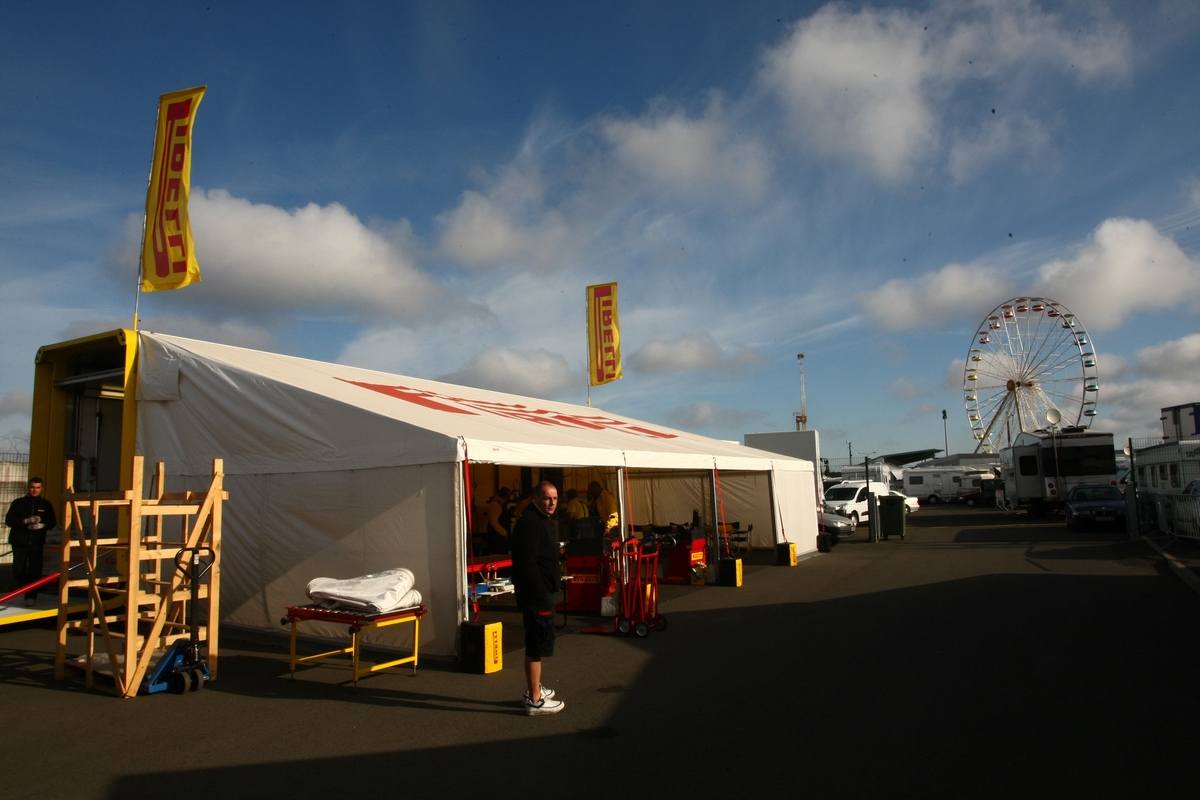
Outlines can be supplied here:
[[554, 655], [554, 593], [558, 569], [558, 528], [553, 521], [558, 489], [550, 481], [533, 487], [533, 503], [512, 529], [512, 585], [526, 628], [524, 708], [529, 716], [558, 714], [566, 705], [554, 690], [541, 685], [541, 660]]

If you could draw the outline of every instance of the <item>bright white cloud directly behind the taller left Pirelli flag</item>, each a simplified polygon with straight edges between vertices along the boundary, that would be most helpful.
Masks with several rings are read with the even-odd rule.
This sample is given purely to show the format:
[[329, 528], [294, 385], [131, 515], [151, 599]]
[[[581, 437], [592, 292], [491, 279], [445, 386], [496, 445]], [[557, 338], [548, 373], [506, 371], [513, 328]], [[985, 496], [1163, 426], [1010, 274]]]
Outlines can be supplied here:
[[[289, 211], [223, 190], [194, 192], [188, 210], [204, 278], [188, 301], [256, 314], [304, 307], [413, 318], [439, 295], [414, 265], [406, 223], [384, 233], [336, 203]], [[140, 217], [131, 217], [109, 257], [114, 272], [136, 263], [139, 231]]]

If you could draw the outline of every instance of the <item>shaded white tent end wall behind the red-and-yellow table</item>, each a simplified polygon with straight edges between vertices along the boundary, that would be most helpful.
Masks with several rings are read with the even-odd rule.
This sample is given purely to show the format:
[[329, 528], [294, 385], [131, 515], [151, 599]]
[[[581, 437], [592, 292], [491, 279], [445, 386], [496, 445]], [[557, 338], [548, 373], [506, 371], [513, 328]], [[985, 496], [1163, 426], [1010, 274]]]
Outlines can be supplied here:
[[[278, 631], [284, 607], [310, 602], [305, 589], [313, 578], [402, 566], [416, 576], [415, 588], [430, 609], [421, 622], [421, 651], [452, 655], [461, 606], [455, 469], [428, 464], [227, 475], [222, 621]], [[199, 482], [199, 476], [167, 477], [170, 489]], [[308, 622], [302, 632], [344, 638], [346, 627]], [[364, 640], [408, 648], [412, 627], [368, 631]]]

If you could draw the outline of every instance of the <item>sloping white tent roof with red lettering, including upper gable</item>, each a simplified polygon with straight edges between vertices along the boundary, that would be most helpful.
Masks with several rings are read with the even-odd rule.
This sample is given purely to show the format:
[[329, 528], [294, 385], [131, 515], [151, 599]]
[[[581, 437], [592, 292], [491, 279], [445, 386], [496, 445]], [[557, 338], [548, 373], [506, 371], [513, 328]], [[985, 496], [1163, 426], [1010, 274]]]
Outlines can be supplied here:
[[[764, 471], [809, 462], [600, 409], [140, 333], [139, 426], [221, 443], [229, 471], [462, 461]], [[172, 403], [170, 401], [176, 401]], [[168, 456], [168, 453], [162, 453]]]

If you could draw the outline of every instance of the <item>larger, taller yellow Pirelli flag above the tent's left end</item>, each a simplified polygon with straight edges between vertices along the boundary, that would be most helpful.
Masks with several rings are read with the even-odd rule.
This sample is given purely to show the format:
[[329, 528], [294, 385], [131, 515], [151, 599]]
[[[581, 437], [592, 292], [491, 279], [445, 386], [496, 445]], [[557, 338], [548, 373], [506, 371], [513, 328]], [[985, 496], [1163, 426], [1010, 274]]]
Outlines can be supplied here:
[[187, 196], [192, 188], [192, 124], [205, 89], [185, 89], [158, 98], [142, 242], [143, 291], [181, 289], [200, 279], [187, 218]]

